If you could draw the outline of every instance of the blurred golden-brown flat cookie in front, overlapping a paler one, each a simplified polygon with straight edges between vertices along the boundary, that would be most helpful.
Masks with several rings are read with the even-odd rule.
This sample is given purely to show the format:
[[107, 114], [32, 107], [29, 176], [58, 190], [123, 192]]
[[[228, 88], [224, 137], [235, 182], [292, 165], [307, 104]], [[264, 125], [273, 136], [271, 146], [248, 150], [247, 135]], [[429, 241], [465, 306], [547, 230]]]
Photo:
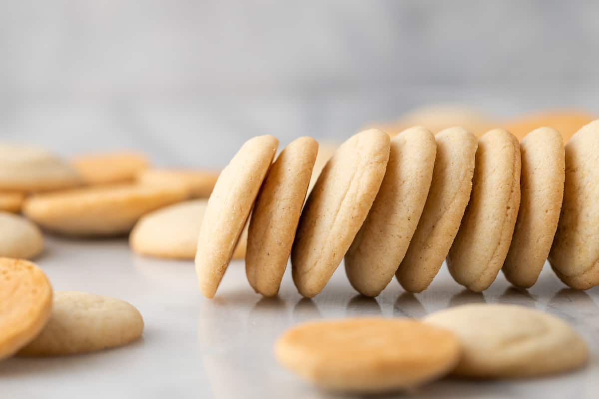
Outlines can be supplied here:
[[415, 388], [449, 373], [461, 354], [449, 331], [410, 319], [307, 322], [286, 331], [277, 360], [331, 391], [375, 394]]

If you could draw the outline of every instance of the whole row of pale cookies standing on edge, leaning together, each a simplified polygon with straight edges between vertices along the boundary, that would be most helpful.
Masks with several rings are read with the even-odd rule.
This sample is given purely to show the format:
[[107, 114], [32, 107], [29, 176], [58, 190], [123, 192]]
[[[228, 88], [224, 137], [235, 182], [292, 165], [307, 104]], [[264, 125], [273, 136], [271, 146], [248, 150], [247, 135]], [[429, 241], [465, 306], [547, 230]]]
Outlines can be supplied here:
[[195, 258], [207, 297], [248, 218], [247, 278], [264, 296], [277, 294], [290, 254], [305, 297], [323, 290], [343, 258], [366, 296], [394, 275], [407, 291], [425, 290], [445, 259], [473, 291], [500, 270], [531, 287], [547, 257], [570, 287], [599, 284], [599, 120], [565, 151], [549, 127], [522, 142], [504, 129], [480, 139], [461, 127], [394, 138], [365, 130], [338, 148], [305, 205], [318, 145], [299, 138], [272, 163], [277, 146], [273, 136], [250, 139], [216, 182]]

